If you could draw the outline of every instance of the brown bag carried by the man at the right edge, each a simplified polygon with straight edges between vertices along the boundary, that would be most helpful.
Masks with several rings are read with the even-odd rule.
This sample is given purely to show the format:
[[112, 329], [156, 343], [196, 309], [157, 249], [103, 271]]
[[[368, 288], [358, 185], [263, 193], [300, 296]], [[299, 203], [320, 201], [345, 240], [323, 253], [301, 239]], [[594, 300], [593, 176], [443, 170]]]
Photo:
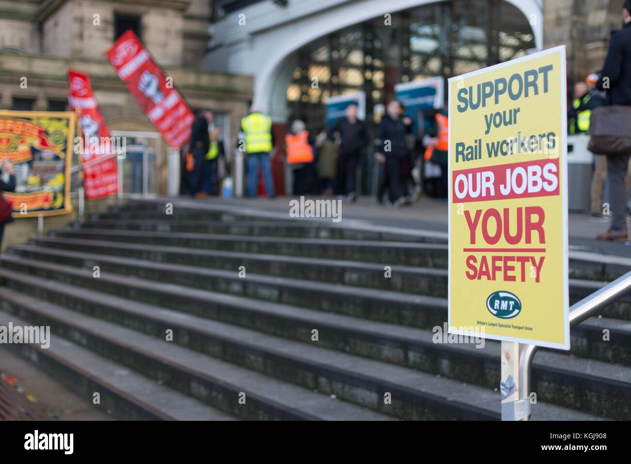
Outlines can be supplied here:
[[631, 153], [631, 106], [599, 106], [589, 117], [587, 150], [596, 155]]

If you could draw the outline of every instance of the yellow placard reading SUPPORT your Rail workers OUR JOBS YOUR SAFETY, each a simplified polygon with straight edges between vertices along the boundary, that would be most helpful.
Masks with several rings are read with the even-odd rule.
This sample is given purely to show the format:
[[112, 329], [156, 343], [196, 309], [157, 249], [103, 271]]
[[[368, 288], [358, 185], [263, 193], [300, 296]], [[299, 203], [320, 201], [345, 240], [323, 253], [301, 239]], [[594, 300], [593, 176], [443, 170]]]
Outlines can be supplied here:
[[565, 47], [449, 79], [449, 331], [570, 348]]

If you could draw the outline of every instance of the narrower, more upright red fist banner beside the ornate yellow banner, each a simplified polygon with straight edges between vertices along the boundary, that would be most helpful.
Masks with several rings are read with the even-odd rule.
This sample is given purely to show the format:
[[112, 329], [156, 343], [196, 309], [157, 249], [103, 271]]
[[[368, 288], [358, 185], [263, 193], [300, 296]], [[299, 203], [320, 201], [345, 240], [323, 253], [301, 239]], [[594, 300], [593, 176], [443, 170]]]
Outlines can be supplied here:
[[[83, 133], [82, 143], [75, 143], [81, 154], [84, 167], [83, 186], [88, 199], [105, 198], [118, 191], [116, 158], [112, 157], [113, 146], [110, 129], [98, 110], [90, 78], [70, 69], [68, 71], [68, 102], [76, 112]], [[92, 160], [103, 157], [103, 161]]]

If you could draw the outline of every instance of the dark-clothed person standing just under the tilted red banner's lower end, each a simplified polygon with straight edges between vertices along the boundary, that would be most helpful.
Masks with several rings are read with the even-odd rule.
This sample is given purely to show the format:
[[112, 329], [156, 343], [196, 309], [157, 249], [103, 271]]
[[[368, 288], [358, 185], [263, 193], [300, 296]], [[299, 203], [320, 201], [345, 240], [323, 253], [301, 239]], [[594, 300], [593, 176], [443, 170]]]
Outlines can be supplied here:
[[208, 184], [204, 185], [204, 179], [210, 175], [206, 153], [210, 148], [208, 126], [212, 122], [213, 112], [206, 108], [199, 112], [191, 127], [192, 169], [189, 171], [189, 189], [195, 198], [206, 198], [210, 194], [204, 190], [204, 187], [208, 188]]

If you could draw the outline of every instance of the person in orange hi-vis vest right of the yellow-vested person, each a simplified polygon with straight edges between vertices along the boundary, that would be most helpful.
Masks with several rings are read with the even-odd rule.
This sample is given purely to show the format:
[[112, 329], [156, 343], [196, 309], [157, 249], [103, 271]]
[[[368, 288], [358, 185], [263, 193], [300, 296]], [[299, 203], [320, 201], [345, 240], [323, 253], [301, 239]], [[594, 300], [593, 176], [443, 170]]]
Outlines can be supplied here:
[[314, 152], [309, 145], [309, 131], [303, 121], [296, 119], [292, 122], [290, 133], [285, 136], [285, 144], [287, 164], [292, 168], [293, 174], [293, 194], [309, 193], [309, 173]]

